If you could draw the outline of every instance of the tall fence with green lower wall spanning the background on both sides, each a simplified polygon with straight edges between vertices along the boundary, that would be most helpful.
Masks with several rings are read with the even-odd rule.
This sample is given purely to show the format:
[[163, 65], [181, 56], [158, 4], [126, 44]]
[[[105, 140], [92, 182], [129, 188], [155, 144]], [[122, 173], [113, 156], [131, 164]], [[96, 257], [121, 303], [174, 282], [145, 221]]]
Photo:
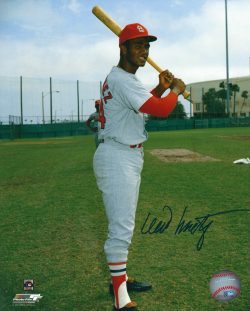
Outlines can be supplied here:
[[[250, 76], [187, 86], [166, 119], [149, 116], [148, 131], [250, 126]], [[152, 89], [152, 88], [150, 88]], [[85, 125], [100, 98], [100, 82], [0, 77], [0, 138], [51, 137], [90, 133]]]

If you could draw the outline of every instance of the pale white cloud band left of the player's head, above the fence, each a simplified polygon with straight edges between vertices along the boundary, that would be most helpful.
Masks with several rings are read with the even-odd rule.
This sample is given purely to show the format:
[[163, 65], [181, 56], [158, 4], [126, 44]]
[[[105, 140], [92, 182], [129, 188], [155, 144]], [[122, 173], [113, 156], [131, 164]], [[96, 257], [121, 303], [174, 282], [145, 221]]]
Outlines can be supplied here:
[[88, 44], [84, 36], [67, 36], [49, 46], [9, 39], [1, 44], [5, 46], [0, 51], [0, 58], [5, 59], [1, 65], [5, 75], [11, 72], [17, 76], [99, 81], [105, 78], [109, 64], [118, 63], [119, 56], [118, 49], [112, 48], [116, 45], [114, 39]]

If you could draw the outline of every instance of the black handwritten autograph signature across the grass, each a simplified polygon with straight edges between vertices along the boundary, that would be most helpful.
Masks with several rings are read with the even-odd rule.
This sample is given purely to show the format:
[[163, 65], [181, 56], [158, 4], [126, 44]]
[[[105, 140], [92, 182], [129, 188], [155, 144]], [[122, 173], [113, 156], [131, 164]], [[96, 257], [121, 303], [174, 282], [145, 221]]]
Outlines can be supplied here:
[[[169, 228], [173, 220], [172, 208], [168, 205], [165, 205], [163, 207], [163, 211], [168, 212], [168, 219], [166, 221], [158, 219], [158, 217], [155, 217], [151, 213], [148, 213], [141, 227], [142, 234], [164, 233]], [[183, 232], [189, 232], [192, 235], [194, 235], [196, 232], [200, 233], [200, 237], [196, 244], [197, 251], [200, 251], [203, 247], [205, 234], [214, 223], [214, 220], [211, 219], [212, 217], [236, 212], [250, 212], [250, 209], [234, 209], [229, 211], [217, 212], [214, 214], [207, 214], [204, 216], [195, 217], [194, 220], [189, 221], [186, 221], [184, 219], [186, 211], [187, 207], [185, 207], [183, 210], [182, 216], [175, 230], [175, 235], [179, 235]]]

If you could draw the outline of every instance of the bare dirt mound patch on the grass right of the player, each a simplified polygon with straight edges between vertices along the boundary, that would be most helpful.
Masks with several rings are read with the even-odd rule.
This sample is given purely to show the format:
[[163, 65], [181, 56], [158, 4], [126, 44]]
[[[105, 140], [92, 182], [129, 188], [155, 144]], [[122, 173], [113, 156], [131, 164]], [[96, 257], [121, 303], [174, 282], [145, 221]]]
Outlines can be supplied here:
[[193, 152], [188, 149], [153, 149], [150, 151], [153, 156], [164, 162], [207, 162], [219, 161], [218, 159]]

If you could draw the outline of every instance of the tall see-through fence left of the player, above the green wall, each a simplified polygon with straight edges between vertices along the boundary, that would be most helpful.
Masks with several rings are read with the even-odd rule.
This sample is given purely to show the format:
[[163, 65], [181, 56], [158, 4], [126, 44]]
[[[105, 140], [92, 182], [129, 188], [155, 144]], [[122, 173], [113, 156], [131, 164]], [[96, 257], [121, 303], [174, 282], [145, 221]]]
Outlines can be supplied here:
[[13, 122], [10, 115], [19, 116], [22, 124], [84, 121], [98, 98], [98, 81], [0, 77], [0, 122]]

